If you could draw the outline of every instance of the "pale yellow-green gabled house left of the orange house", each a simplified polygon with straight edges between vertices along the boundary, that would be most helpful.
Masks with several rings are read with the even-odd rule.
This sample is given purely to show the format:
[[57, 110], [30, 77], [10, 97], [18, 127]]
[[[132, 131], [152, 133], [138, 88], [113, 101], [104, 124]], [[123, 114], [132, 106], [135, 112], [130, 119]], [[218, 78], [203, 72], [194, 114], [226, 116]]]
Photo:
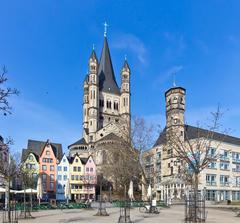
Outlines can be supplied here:
[[26, 171], [31, 177], [29, 187], [36, 188], [39, 174], [39, 157], [33, 152], [27, 152], [22, 157], [23, 171]]

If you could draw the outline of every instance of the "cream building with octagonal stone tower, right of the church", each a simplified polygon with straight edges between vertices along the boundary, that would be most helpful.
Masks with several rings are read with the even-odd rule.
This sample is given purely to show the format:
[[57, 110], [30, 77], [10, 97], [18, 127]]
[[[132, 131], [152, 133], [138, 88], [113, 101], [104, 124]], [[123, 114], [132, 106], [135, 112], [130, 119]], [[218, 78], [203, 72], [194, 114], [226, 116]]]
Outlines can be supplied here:
[[[207, 138], [209, 130], [185, 124], [185, 94], [182, 87], [166, 91], [166, 126], [152, 149], [144, 153], [144, 167], [148, 183], [152, 185], [157, 199], [168, 202], [182, 199], [186, 185], [180, 172], [182, 160], [174, 158], [173, 148], [168, 146], [169, 132], [185, 143], [186, 137], [192, 144], [200, 138], [211, 140], [211, 160], [199, 176], [199, 190], [206, 193], [210, 201], [240, 200], [240, 138], [214, 132]], [[211, 157], [210, 157], [211, 158]]]

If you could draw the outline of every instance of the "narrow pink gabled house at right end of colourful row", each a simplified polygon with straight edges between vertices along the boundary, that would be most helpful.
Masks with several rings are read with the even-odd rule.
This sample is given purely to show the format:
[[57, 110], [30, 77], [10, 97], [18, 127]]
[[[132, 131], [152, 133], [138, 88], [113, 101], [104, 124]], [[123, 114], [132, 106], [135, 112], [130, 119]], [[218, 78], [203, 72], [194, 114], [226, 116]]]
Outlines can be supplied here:
[[97, 172], [96, 165], [92, 156], [89, 156], [85, 161], [84, 168], [84, 192], [85, 199], [94, 199], [95, 186], [97, 184]]

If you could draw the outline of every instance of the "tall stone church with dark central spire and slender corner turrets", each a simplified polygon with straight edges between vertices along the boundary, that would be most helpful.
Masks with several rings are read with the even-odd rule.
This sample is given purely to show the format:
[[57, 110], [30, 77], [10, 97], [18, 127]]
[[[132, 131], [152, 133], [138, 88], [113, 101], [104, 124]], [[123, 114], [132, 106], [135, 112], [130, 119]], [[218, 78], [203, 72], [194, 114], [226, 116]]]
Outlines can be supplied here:
[[[106, 143], [128, 137], [131, 122], [130, 67], [125, 58], [120, 71], [121, 86], [115, 78], [106, 33], [100, 60], [92, 50], [88, 74], [83, 83], [83, 135], [69, 145], [70, 156], [93, 155], [99, 167], [106, 159]], [[98, 168], [99, 169], [99, 168]]]

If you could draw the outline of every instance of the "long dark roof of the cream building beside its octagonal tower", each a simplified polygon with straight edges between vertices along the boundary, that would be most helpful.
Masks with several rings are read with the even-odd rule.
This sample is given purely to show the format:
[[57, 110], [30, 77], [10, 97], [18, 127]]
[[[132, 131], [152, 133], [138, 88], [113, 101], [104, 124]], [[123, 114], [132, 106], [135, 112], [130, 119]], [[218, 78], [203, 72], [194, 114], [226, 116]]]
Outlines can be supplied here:
[[[200, 137], [207, 137], [208, 134], [209, 134], [209, 130], [207, 129], [203, 129], [203, 128], [199, 128], [191, 125], [185, 125], [185, 138], [188, 137], [188, 139], [196, 139]], [[240, 138], [230, 136], [230, 135], [225, 135], [219, 132], [214, 132], [213, 139], [217, 141], [223, 141], [225, 143], [240, 145]], [[154, 147], [164, 143], [166, 143], [166, 127], [160, 133], [156, 143], [154, 144]]]

